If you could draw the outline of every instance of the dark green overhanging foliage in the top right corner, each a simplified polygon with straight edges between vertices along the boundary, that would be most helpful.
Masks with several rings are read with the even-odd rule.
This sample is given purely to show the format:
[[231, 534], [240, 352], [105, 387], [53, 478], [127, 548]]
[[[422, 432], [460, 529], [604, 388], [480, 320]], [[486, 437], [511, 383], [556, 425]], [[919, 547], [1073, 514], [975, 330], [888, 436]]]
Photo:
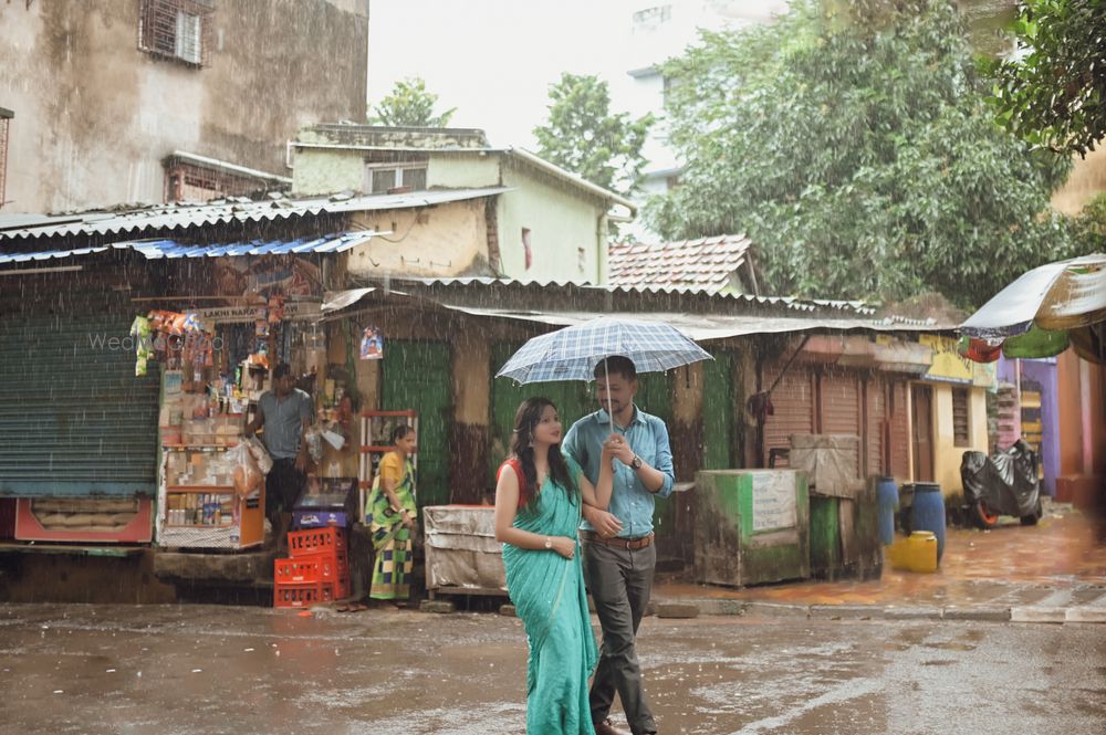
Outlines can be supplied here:
[[1014, 35], [1026, 53], [999, 64], [999, 120], [1033, 145], [1085, 157], [1106, 137], [1106, 0], [1019, 10]]

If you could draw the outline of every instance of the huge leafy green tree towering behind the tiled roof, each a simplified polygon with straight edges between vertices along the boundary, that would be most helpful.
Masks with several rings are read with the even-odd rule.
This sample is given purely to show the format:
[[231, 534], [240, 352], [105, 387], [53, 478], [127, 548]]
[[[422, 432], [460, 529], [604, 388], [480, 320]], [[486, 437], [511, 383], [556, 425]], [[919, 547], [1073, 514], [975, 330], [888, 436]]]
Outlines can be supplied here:
[[666, 64], [664, 237], [743, 232], [781, 294], [978, 305], [1063, 256], [1066, 158], [999, 128], [947, 0], [795, 0]]

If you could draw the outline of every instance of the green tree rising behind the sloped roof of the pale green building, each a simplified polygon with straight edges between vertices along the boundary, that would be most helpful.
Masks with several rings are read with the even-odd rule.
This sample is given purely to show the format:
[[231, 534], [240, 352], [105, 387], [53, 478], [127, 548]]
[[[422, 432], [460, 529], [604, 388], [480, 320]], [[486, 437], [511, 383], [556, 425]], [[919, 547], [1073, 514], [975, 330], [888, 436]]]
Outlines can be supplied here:
[[534, 128], [539, 155], [592, 183], [622, 195], [640, 179], [653, 115], [634, 120], [611, 112], [607, 83], [592, 75], [564, 73], [550, 86], [549, 119]]

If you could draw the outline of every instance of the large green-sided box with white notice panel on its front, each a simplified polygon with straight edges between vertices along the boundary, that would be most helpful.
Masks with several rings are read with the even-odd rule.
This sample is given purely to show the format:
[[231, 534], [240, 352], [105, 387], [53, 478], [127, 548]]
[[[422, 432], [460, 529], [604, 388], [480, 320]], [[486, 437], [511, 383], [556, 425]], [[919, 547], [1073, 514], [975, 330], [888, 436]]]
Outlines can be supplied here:
[[696, 579], [743, 587], [810, 577], [806, 475], [794, 470], [696, 474]]

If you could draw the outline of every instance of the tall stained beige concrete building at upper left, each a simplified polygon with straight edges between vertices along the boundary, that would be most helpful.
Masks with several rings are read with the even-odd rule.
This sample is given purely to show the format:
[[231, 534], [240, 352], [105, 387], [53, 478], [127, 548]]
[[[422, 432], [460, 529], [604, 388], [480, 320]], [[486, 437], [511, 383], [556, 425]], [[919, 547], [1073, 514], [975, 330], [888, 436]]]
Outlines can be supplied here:
[[300, 126], [364, 118], [367, 52], [362, 0], [0, 3], [0, 212], [286, 188]]

